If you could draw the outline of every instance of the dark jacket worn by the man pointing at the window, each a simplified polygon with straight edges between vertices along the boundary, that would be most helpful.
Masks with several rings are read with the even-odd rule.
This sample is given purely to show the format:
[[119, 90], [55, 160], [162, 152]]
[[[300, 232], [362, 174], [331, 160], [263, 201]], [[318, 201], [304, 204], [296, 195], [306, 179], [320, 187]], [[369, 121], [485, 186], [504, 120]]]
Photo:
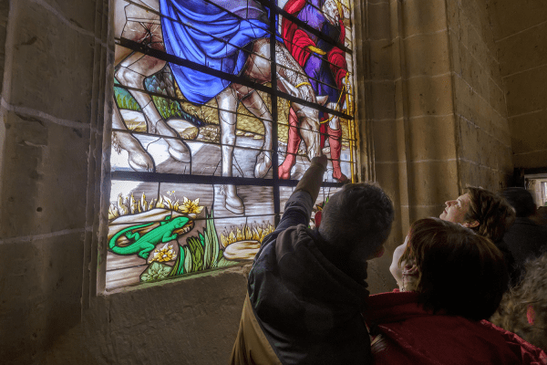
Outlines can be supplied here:
[[[254, 359], [253, 353], [268, 356], [267, 345], [283, 364], [369, 363], [370, 340], [361, 316], [368, 297], [366, 265], [343, 271], [323, 255], [322, 238], [307, 228], [313, 203], [309, 193], [293, 193], [277, 229], [264, 238], [248, 282], [246, 303], [253, 316], [242, 318], [232, 364], [275, 363]], [[254, 321], [261, 333], [246, 334]], [[249, 337], [268, 344], [253, 345]]]

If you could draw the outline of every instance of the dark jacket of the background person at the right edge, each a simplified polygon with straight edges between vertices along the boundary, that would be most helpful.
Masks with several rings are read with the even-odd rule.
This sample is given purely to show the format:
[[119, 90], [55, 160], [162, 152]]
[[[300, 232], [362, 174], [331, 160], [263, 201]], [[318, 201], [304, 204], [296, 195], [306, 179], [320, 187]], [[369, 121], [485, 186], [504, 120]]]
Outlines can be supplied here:
[[535, 224], [529, 218], [517, 217], [515, 223], [503, 236], [517, 266], [522, 266], [529, 257], [542, 254], [547, 247], [547, 227]]

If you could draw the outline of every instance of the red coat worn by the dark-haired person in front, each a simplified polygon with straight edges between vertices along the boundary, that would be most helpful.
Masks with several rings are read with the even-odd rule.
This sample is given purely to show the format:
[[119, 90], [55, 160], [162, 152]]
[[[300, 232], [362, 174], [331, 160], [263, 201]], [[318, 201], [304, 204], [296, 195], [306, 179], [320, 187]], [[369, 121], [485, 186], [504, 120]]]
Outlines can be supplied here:
[[547, 364], [541, 349], [487, 320], [425, 311], [417, 293], [370, 296], [364, 316], [377, 364]]

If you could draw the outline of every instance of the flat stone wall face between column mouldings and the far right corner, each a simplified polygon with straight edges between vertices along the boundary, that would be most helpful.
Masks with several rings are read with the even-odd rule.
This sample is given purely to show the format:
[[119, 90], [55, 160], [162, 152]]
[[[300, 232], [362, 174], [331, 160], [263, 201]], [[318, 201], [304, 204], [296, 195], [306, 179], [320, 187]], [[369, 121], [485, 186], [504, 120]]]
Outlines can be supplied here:
[[459, 183], [498, 191], [512, 173], [512, 158], [500, 59], [490, 26], [491, 2], [447, 3]]

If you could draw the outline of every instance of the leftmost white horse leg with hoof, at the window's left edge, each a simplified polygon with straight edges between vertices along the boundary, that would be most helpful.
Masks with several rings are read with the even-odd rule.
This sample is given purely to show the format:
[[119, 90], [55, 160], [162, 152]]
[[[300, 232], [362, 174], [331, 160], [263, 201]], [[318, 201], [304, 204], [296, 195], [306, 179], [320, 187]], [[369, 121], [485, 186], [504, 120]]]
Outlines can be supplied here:
[[[121, 114], [119, 113], [118, 104], [116, 99], [114, 99], [114, 112], [112, 113], [112, 128], [118, 130], [127, 130], [126, 125], [124, 124]], [[136, 171], [154, 171], [154, 162], [150, 158], [150, 155], [147, 151], [144, 150], [142, 145], [135, 137], [129, 133], [114, 131], [113, 132], [114, 140], [117, 141], [119, 147], [128, 151], [129, 153], [129, 165]]]

